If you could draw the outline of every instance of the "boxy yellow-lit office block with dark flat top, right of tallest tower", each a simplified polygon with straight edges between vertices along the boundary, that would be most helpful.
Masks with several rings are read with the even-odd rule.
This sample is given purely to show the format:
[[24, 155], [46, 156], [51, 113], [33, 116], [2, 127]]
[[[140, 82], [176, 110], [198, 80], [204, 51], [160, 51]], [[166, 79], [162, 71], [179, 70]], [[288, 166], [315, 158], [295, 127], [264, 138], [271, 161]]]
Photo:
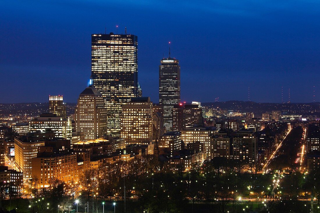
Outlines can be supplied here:
[[152, 141], [152, 102], [149, 97], [132, 98], [122, 105], [121, 138], [127, 144], [150, 144]]

